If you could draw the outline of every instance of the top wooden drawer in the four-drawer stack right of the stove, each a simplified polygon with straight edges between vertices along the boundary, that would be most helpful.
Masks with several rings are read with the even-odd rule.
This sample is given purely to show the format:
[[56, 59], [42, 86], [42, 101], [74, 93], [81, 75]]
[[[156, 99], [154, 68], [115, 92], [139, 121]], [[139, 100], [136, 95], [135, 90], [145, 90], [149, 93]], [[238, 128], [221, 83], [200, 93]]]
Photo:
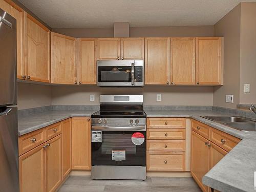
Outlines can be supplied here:
[[186, 128], [186, 118], [147, 118], [148, 128]]

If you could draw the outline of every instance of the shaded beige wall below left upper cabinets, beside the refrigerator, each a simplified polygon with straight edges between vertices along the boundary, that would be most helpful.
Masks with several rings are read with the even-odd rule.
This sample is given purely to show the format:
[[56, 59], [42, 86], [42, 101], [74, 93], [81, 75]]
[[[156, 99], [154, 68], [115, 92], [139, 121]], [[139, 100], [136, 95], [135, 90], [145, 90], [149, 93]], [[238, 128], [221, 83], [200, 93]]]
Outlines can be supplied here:
[[52, 104], [52, 88], [40, 84], [18, 82], [18, 110]]

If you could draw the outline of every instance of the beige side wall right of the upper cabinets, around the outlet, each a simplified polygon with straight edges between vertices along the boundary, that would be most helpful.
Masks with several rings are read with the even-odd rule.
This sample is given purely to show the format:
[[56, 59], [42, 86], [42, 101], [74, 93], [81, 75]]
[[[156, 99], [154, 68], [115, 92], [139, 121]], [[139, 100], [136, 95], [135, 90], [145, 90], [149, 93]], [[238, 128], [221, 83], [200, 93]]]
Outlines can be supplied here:
[[[224, 86], [214, 88], [216, 106], [236, 108], [239, 104], [240, 8], [239, 4], [214, 25], [214, 35], [224, 37]], [[227, 94], [234, 95], [234, 103], [225, 102]]]

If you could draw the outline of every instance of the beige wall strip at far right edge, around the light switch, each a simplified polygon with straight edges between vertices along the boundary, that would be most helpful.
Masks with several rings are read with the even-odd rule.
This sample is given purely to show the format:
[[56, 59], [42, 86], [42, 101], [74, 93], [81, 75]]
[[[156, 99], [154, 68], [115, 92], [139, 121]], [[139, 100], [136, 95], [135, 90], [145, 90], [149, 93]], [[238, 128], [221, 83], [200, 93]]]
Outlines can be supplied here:
[[[241, 3], [240, 104], [256, 103], [256, 3]], [[244, 83], [250, 93], [244, 93]]]

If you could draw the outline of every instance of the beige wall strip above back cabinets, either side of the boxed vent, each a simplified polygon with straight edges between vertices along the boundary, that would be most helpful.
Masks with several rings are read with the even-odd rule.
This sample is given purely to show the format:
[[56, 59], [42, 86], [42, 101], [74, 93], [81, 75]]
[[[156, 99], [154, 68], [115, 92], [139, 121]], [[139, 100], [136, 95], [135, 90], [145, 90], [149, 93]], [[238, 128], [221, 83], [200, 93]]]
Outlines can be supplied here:
[[[74, 37], [114, 37], [114, 28], [53, 29], [53, 31]], [[130, 37], [195, 37], [213, 35], [213, 26], [130, 28]]]

